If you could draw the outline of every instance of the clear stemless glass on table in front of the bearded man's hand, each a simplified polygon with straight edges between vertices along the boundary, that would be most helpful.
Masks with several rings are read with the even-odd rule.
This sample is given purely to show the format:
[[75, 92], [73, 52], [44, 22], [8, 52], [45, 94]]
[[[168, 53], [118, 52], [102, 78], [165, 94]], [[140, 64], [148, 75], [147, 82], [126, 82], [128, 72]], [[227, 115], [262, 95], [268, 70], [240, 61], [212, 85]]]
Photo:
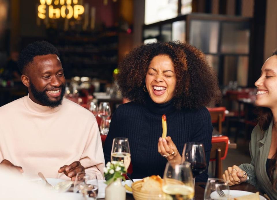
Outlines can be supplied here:
[[85, 172], [79, 172], [74, 181], [73, 192], [81, 193], [84, 199], [87, 197], [97, 199], [98, 181], [96, 174], [88, 175]]

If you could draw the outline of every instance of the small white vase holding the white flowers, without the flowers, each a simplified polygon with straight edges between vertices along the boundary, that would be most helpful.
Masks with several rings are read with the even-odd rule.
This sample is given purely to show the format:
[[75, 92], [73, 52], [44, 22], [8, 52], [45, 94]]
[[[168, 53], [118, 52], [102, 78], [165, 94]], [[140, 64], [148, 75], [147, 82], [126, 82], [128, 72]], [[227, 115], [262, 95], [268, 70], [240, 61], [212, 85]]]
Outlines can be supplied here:
[[125, 187], [121, 184], [120, 178], [106, 187], [105, 200], [126, 200]]

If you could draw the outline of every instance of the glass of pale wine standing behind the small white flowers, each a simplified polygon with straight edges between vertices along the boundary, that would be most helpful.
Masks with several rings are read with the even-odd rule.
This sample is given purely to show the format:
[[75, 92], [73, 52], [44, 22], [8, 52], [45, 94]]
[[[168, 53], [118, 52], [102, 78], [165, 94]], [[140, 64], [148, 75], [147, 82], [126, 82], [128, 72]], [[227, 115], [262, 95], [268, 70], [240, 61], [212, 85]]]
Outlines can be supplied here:
[[131, 153], [128, 138], [114, 138], [111, 151], [111, 161], [121, 161], [126, 170], [131, 163]]

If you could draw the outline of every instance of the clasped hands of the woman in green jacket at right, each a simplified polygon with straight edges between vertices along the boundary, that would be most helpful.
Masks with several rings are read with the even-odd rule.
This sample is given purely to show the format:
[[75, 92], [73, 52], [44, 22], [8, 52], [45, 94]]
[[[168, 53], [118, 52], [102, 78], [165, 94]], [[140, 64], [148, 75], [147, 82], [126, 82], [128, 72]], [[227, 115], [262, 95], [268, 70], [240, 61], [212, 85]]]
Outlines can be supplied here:
[[232, 167], [228, 167], [228, 169], [225, 170], [222, 178], [229, 184], [229, 186], [232, 186], [246, 182], [247, 174], [237, 165], [233, 165]]

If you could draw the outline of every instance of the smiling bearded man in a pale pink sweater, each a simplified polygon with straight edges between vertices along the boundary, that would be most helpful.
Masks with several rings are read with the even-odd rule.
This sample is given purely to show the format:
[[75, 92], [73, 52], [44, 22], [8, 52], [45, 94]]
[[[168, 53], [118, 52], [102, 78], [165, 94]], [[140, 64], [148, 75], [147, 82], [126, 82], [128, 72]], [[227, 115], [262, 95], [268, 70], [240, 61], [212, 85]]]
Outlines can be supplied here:
[[27, 45], [18, 67], [29, 95], [0, 107], [0, 166], [38, 178], [74, 180], [78, 172], [103, 179], [104, 155], [94, 115], [63, 99], [65, 77], [57, 49]]

